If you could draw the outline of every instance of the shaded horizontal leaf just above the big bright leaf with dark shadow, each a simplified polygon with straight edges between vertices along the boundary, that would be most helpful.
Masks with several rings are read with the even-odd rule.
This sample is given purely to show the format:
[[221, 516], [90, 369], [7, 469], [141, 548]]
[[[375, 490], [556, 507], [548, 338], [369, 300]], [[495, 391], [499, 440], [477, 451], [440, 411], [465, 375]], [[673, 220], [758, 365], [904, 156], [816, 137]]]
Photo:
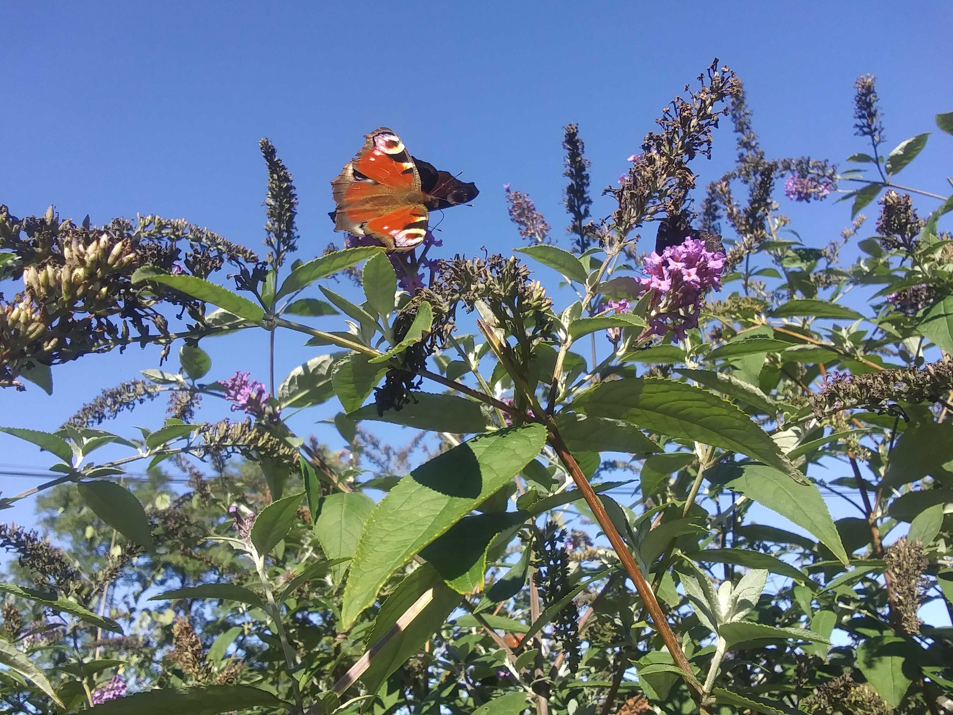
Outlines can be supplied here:
[[351, 419], [372, 419], [393, 424], [403, 424], [418, 430], [465, 434], [486, 432], [490, 419], [483, 413], [480, 403], [473, 399], [450, 394], [416, 392], [412, 401], [400, 410], [388, 410], [377, 414], [377, 406], [369, 404], [348, 414]]

